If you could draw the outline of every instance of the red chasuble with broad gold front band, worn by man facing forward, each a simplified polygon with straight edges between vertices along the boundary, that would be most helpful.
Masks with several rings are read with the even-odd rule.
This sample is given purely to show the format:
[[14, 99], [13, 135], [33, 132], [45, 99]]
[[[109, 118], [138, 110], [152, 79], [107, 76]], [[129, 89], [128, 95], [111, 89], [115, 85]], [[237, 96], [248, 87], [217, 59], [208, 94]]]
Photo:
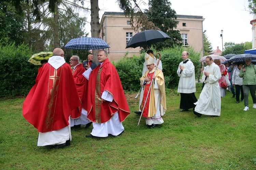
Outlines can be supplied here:
[[[115, 67], [107, 58], [101, 68], [98, 65], [92, 70], [88, 82], [88, 115], [87, 118], [95, 123], [105, 123], [118, 112], [120, 122], [130, 114], [124, 90]], [[97, 76], [100, 76], [100, 78]], [[100, 80], [100, 81], [97, 81]], [[99, 87], [99, 94], [97, 92]], [[106, 90], [114, 97], [112, 102], [101, 103], [101, 95]], [[97, 99], [98, 102], [97, 102]], [[97, 113], [97, 114], [96, 114]]]

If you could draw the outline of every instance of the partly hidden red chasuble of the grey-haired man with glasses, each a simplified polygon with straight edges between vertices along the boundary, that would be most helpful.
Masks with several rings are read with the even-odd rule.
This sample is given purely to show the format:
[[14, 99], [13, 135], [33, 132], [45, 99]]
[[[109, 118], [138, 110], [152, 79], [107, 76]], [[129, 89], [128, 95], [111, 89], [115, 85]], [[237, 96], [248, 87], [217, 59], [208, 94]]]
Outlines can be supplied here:
[[[79, 106], [79, 112], [81, 116], [82, 107], [83, 109], [87, 110], [87, 82], [88, 80], [83, 76], [83, 73], [85, 72], [85, 68], [83, 67], [83, 64], [79, 64], [75, 67], [74, 70], [72, 70], [73, 78], [75, 81], [75, 86], [81, 101], [81, 104]], [[71, 113], [71, 118], [76, 119], [80, 116], [78, 116], [74, 111]]]

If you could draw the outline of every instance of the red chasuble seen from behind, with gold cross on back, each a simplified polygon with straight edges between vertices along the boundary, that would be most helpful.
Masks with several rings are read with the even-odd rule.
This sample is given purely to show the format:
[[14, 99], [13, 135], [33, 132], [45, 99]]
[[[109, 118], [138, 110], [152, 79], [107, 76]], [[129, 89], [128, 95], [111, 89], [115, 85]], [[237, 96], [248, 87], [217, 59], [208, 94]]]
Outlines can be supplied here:
[[23, 103], [22, 114], [38, 132], [56, 131], [69, 125], [70, 113], [79, 104], [70, 65], [64, 63], [56, 70], [46, 63]]

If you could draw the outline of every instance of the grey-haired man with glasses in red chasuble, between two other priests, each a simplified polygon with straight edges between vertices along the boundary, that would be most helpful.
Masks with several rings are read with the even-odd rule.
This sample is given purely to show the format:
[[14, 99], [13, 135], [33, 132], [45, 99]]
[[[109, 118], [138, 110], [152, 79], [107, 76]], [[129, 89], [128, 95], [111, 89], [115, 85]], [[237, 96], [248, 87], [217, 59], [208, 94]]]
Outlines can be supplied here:
[[[79, 112], [81, 113], [80, 117], [73, 115], [70, 116], [70, 125], [71, 127], [80, 128], [81, 125], [86, 125], [85, 129], [89, 128], [91, 121], [87, 119], [87, 82], [88, 80], [83, 76], [85, 68], [83, 64], [79, 64], [79, 56], [73, 55], [70, 60], [70, 65], [72, 68], [72, 74], [75, 81], [75, 86], [80, 98]], [[73, 110], [74, 112], [74, 110]]]

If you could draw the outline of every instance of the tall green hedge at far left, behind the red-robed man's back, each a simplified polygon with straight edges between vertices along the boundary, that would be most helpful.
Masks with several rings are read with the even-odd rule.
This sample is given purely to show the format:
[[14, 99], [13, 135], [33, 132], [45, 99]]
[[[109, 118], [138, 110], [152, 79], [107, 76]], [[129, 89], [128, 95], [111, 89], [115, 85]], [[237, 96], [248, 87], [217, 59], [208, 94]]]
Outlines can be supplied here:
[[38, 66], [28, 63], [26, 45], [0, 46], [0, 97], [26, 96], [35, 84]]

